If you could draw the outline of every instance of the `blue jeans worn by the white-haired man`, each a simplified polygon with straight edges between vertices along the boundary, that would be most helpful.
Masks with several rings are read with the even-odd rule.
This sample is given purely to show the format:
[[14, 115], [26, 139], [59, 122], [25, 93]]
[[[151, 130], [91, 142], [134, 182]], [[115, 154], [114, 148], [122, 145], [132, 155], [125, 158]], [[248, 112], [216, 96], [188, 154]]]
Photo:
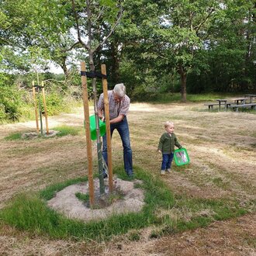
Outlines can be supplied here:
[[[124, 169], [128, 176], [133, 175], [133, 153], [130, 147], [130, 133], [129, 133], [129, 126], [126, 117], [123, 121], [119, 123], [112, 123], [110, 124], [110, 134], [112, 137], [112, 133], [114, 130], [117, 130], [122, 143], [123, 143], [123, 162], [124, 162]], [[102, 149], [102, 156], [108, 164], [108, 152], [107, 152], [107, 143], [106, 143], [106, 135], [103, 136], [103, 149]]]

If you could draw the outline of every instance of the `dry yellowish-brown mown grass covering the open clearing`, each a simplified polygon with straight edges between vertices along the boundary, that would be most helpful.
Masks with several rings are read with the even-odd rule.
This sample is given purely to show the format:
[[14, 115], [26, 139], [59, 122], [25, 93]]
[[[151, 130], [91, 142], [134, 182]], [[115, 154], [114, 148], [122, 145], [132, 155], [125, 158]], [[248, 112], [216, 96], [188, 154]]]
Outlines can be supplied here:
[[[133, 104], [128, 116], [133, 164], [159, 175], [161, 155], [156, 147], [164, 122], [172, 120], [178, 140], [191, 159], [185, 171], [174, 165], [174, 171], [163, 177], [175, 194], [202, 199], [236, 198], [240, 203], [255, 199], [256, 115], [200, 109], [202, 104]], [[50, 129], [63, 124], [82, 127], [82, 109], [50, 117], [49, 123]], [[86, 174], [83, 133], [48, 140], [4, 140], [10, 133], [25, 133], [34, 128], [33, 121], [0, 126], [1, 208], [16, 193], [37, 191], [51, 183]], [[112, 150], [113, 163], [122, 165], [122, 145], [117, 133], [112, 138]], [[255, 255], [255, 230], [254, 206], [247, 216], [212, 223], [207, 228], [157, 239], [150, 239], [150, 229], [145, 229], [141, 230], [139, 241], [123, 236], [107, 244], [31, 237], [26, 232], [2, 226], [0, 254]]]

